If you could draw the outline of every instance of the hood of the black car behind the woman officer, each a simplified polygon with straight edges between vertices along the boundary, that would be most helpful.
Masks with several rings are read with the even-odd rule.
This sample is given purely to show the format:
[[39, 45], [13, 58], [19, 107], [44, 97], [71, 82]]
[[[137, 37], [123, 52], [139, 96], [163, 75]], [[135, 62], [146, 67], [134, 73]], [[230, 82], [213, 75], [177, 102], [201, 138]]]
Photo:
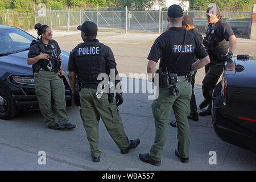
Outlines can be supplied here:
[[[19, 73], [32, 75], [32, 65], [27, 64], [28, 51], [13, 53], [10, 55], [0, 56], [2, 71], [9, 73]], [[62, 68], [65, 72], [68, 70], [69, 52], [61, 50]]]

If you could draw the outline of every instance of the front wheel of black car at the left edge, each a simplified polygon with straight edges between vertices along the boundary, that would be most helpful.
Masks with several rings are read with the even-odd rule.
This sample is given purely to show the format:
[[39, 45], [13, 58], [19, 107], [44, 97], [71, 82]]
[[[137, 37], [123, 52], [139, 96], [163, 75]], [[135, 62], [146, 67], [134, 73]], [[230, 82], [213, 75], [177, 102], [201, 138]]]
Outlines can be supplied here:
[[0, 119], [11, 119], [19, 113], [10, 93], [6, 88], [0, 87]]

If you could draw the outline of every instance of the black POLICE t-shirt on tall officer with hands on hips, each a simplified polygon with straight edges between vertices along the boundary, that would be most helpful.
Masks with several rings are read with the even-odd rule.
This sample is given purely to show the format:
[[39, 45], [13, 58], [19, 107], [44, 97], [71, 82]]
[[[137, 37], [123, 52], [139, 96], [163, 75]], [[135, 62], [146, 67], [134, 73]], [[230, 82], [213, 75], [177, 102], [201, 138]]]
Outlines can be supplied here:
[[[187, 30], [184, 27], [171, 27], [163, 32], [155, 40], [147, 59], [157, 63], [161, 58], [160, 67], [163, 68], [163, 71], [166, 70], [164, 67], [166, 65], [168, 72], [186, 75], [191, 69], [194, 55], [198, 59], [203, 59], [208, 54], [200, 41], [188, 31], [183, 48], [185, 31]], [[180, 59], [176, 62], [181, 51]]]

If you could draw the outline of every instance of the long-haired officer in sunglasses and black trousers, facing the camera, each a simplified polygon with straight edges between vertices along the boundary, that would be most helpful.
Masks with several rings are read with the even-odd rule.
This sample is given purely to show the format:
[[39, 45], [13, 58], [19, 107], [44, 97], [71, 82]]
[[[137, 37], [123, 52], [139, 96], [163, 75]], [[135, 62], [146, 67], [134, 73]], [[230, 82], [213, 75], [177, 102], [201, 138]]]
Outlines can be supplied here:
[[204, 101], [201, 102], [199, 108], [208, 107], [199, 113], [201, 116], [211, 114], [212, 91], [223, 72], [225, 61], [232, 58], [237, 44], [236, 36], [229, 24], [222, 20], [218, 6], [209, 7], [206, 16], [209, 25], [204, 38], [204, 46], [209, 54], [210, 64], [205, 66], [206, 75], [202, 86]]

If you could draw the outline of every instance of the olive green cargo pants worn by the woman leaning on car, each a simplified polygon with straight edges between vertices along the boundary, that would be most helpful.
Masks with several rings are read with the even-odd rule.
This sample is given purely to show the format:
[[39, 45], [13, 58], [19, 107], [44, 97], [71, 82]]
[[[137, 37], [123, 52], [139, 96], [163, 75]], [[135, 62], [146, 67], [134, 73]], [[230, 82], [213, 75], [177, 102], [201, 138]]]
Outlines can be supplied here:
[[39, 71], [39, 73], [34, 73], [34, 82], [40, 111], [44, 118], [46, 118], [46, 126], [55, 125], [55, 117], [52, 110], [52, 97], [54, 99], [59, 125], [68, 123], [68, 113], [65, 110], [65, 88], [58, 74], [48, 71]]

